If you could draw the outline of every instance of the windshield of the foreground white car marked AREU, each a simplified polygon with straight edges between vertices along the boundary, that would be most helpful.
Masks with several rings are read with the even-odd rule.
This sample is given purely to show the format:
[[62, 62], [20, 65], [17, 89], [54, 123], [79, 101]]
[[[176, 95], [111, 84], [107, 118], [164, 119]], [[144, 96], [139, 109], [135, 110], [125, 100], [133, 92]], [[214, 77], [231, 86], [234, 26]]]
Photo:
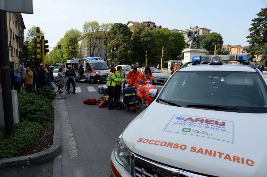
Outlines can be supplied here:
[[256, 72], [176, 72], [160, 93], [159, 103], [166, 104], [160, 99], [182, 107], [201, 109], [208, 105], [242, 113], [267, 113], [266, 84]]

